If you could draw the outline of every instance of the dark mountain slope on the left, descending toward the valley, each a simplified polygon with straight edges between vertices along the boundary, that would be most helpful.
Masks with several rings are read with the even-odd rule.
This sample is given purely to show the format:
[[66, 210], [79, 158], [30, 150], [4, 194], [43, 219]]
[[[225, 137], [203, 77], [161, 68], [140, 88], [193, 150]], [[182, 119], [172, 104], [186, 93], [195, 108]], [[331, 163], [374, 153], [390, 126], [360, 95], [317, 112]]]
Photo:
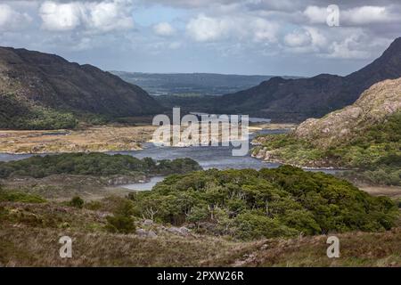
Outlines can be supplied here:
[[75, 116], [119, 118], [160, 110], [142, 88], [94, 66], [0, 47], [0, 127], [46, 128], [52, 122], [72, 123]]

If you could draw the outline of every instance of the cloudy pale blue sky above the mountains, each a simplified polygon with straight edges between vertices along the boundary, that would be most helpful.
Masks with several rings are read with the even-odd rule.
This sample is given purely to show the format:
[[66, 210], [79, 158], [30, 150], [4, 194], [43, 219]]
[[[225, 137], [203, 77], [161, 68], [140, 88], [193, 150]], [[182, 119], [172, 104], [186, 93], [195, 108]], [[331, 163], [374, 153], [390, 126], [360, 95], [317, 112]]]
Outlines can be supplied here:
[[106, 70], [347, 75], [396, 37], [399, 0], [0, 0], [0, 45]]

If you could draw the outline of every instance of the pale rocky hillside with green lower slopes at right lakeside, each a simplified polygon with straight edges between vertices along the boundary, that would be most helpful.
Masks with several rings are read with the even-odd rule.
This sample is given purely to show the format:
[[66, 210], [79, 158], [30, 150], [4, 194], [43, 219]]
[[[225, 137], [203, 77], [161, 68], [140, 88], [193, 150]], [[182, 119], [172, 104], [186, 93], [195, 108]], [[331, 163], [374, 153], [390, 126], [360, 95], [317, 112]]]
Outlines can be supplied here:
[[352, 180], [401, 185], [401, 77], [372, 85], [352, 105], [290, 134], [258, 137], [252, 155], [300, 167], [345, 167]]

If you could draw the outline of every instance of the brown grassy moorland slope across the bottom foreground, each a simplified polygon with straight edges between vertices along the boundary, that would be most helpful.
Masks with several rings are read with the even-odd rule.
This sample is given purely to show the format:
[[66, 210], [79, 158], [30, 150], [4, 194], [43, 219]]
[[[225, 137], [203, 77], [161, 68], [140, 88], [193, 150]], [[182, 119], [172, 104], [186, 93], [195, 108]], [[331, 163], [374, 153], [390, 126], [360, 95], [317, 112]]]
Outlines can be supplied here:
[[[340, 258], [328, 258], [327, 236], [244, 242], [192, 231], [178, 234], [143, 220], [136, 220], [137, 228], [155, 236], [106, 232], [105, 216], [117, 201], [103, 199], [97, 207], [89, 203], [84, 208], [0, 202], [0, 265], [401, 266], [400, 224], [388, 232], [331, 233], [340, 239]], [[58, 240], [64, 235], [72, 239], [72, 258], [59, 256]]]

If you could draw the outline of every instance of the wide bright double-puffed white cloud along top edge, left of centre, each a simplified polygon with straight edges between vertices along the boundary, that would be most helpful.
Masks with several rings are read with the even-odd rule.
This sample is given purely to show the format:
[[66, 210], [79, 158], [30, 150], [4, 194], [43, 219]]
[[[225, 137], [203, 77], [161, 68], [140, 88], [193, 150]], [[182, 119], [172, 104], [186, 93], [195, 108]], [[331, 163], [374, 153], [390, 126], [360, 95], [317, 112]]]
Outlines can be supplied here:
[[40, 6], [39, 14], [42, 27], [47, 30], [64, 31], [82, 27], [86, 30], [109, 32], [134, 27], [130, 14], [131, 0], [113, 0], [102, 2], [57, 3], [45, 1]]

